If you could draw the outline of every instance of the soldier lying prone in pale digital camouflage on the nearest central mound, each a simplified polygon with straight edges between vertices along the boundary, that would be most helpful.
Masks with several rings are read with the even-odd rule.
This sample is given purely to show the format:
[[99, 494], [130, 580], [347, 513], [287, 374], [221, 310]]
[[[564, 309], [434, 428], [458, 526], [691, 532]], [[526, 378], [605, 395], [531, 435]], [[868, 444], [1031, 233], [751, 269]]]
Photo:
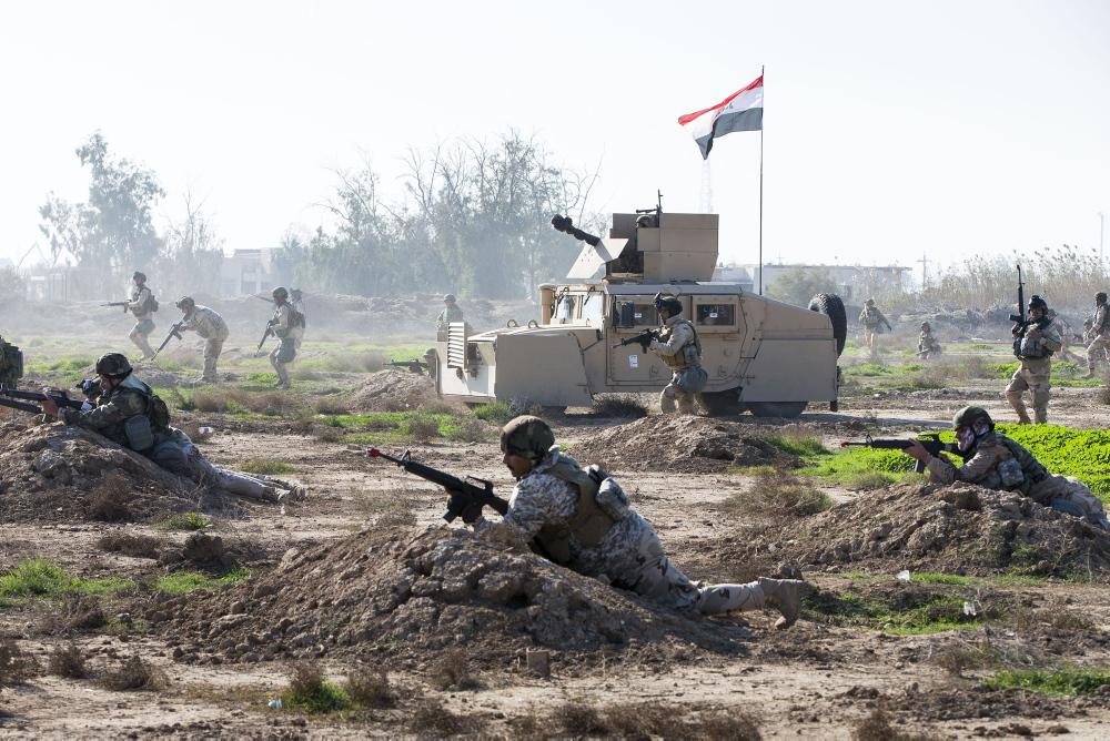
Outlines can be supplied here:
[[703, 586], [692, 581], [663, 550], [652, 525], [628, 506], [619, 485], [596, 466], [583, 469], [559, 451], [538, 417], [523, 416], [501, 435], [504, 464], [516, 477], [508, 511], [491, 522], [477, 511], [463, 519], [485, 537], [535, 539], [559, 566], [619, 589], [703, 615], [777, 609], [776, 628], [798, 619], [810, 586], [796, 579], [759, 578], [744, 585]]

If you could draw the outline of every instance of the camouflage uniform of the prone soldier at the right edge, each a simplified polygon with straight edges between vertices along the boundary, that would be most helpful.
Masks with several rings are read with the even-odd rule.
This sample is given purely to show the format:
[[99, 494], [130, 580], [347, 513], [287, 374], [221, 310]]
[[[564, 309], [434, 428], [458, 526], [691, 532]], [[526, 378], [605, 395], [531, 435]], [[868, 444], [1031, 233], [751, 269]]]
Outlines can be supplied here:
[[929, 458], [929, 480], [968, 481], [988, 489], [1020, 491], [1040, 505], [1110, 529], [1102, 501], [1087, 486], [1073, 476], [1049, 474], [1032, 454], [1005, 435], [988, 433], [973, 453], [959, 468], [942, 457]]

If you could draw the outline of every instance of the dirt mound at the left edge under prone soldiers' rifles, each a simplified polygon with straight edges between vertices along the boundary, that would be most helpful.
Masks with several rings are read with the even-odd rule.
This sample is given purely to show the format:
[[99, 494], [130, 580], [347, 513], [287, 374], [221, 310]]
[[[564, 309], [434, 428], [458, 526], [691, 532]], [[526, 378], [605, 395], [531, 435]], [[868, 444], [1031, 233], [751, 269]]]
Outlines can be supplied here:
[[221, 504], [95, 433], [0, 424], [0, 520], [143, 520]]

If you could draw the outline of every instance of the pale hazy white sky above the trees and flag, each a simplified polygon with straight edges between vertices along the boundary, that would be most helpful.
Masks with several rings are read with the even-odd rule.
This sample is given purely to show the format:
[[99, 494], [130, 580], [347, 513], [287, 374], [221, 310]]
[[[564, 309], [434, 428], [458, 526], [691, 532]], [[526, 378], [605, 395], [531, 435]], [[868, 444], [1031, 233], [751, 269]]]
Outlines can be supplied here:
[[[186, 186], [226, 248], [327, 224], [361, 153], [535, 134], [602, 180], [593, 206], [696, 211], [676, 119], [765, 64], [768, 261], [915, 266], [1097, 246], [1110, 232], [1110, 2], [51, 2], [0, 26], [0, 256], [85, 195], [94, 130]], [[722, 255], [756, 258], [759, 134], [710, 155]], [[322, 220], [324, 220], [322, 222]], [[1110, 241], [1110, 240], [1108, 240]], [[1110, 248], [1108, 248], [1110, 257]]]

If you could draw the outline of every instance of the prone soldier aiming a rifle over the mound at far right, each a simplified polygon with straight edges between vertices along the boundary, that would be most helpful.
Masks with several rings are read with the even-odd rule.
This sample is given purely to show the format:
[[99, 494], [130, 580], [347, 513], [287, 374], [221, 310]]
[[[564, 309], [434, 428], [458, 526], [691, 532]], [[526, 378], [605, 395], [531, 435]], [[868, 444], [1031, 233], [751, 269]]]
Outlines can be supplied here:
[[988, 489], [1018, 491], [1040, 505], [1110, 529], [1102, 501], [1087, 486], [1073, 476], [1049, 474], [1021, 445], [996, 433], [995, 422], [982, 407], [968, 406], [957, 412], [952, 428], [965, 458], [959, 468], [944, 457], [930, 455], [916, 440], [904, 450], [926, 465], [930, 481], [968, 481]]

